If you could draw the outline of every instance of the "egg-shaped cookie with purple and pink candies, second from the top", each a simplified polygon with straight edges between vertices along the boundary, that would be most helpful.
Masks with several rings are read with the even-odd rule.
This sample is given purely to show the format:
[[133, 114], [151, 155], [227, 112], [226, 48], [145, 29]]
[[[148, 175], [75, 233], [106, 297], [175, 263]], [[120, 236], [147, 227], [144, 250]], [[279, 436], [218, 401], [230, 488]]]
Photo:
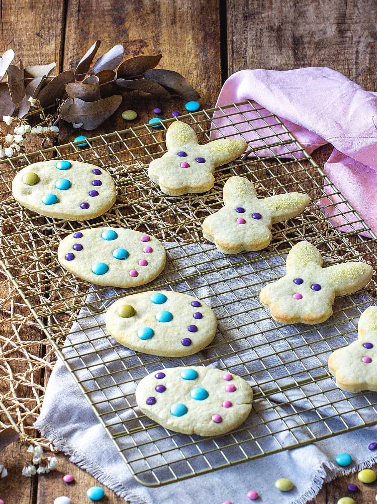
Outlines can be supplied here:
[[136, 287], [163, 271], [163, 244], [148, 234], [117, 227], [75, 231], [58, 247], [60, 264], [83, 280], [111, 287]]

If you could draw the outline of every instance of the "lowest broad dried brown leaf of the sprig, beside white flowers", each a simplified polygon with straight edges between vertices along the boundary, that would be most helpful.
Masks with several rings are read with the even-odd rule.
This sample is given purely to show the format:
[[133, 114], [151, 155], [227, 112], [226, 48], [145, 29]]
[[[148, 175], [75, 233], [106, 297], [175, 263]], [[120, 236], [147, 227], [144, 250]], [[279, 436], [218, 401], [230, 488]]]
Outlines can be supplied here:
[[81, 123], [84, 130], [94, 130], [117, 110], [121, 102], [120, 95], [89, 102], [80, 98], [68, 98], [60, 105], [58, 114], [72, 124]]

